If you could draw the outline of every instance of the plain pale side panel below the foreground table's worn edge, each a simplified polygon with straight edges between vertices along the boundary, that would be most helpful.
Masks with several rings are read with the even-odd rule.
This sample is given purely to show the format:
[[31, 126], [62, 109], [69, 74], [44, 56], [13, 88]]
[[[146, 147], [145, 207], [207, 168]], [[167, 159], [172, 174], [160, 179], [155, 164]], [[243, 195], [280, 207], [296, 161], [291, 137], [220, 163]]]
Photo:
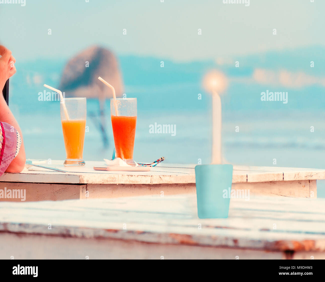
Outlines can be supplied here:
[[[6, 243], [4, 243], [6, 242]], [[37, 246], [37, 248], [35, 248]], [[281, 252], [0, 233], [0, 259], [285, 259]]]

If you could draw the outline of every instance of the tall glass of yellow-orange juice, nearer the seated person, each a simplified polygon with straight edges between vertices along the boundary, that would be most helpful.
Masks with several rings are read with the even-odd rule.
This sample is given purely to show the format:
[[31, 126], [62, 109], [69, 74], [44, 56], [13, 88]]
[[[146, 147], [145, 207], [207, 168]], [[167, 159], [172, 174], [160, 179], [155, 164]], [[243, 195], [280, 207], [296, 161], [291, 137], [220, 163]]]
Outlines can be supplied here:
[[[61, 101], [60, 111], [65, 152], [67, 154], [64, 166], [84, 166], [86, 98], [65, 98]], [[66, 113], [68, 116], [66, 116]]]

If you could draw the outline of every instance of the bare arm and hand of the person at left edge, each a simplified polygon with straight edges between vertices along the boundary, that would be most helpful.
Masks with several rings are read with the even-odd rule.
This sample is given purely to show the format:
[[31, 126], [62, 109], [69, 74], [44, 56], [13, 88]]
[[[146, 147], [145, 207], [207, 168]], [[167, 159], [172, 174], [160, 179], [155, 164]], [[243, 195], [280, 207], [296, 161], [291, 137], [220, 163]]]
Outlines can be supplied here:
[[[6, 81], [16, 73], [15, 68], [15, 58], [11, 55], [11, 51], [6, 49], [4, 46], [0, 46], [0, 90], [5, 86]], [[0, 94], [0, 121], [6, 122], [13, 126], [20, 134], [21, 146], [18, 155], [10, 163], [6, 172], [21, 172], [24, 169], [26, 162], [24, 142], [22, 138], [22, 133], [19, 128], [18, 122], [16, 121], [14, 115], [10, 111], [4, 97]]]

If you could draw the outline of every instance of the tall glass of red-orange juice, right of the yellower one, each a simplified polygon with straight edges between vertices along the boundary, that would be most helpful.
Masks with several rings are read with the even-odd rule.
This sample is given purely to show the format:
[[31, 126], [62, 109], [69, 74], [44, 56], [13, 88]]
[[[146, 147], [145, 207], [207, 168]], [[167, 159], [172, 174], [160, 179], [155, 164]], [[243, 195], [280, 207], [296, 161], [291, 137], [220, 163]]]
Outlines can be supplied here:
[[110, 99], [115, 155], [130, 166], [136, 165], [133, 160], [136, 116], [136, 98]]

